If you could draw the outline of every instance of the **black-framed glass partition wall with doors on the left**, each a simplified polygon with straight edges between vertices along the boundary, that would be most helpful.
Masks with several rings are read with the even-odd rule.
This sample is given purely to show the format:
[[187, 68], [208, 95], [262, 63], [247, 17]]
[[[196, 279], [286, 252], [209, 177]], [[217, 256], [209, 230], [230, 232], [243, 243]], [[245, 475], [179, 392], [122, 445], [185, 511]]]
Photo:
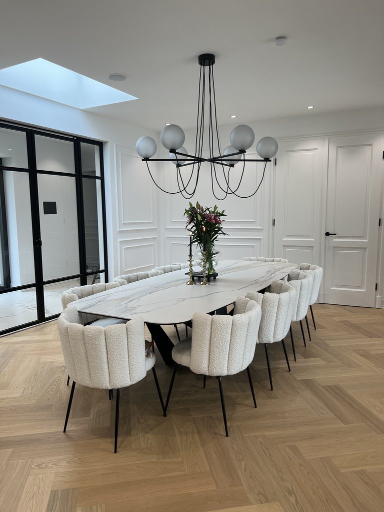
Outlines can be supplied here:
[[0, 123], [0, 334], [107, 282], [102, 143]]

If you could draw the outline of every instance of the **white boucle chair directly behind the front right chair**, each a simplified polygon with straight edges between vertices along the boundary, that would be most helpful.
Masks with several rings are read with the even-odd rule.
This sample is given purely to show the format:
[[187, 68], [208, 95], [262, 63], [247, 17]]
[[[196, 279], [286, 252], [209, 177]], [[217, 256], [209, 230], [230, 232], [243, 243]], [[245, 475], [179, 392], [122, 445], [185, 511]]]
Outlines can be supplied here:
[[264, 344], [267, 361], [270, 390], [273, 391], [272, 372], [269, 364], [268, 345], [281, 342], [288, 371], [290, 372], [288, 354], [284, 338], [289, 331], [293, 309], [296, 305], [296, 290], [285, 281], [273, 281], [265, 293], [248, 292], [246, 297], [261, 307], [261, 321], [258, 343]]

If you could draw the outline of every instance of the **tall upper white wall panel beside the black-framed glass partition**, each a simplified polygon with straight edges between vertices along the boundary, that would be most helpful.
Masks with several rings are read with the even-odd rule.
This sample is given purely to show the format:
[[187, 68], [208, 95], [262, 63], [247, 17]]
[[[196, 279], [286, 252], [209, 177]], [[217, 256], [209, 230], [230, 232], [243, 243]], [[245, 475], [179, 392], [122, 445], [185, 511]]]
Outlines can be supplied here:
[[116, 165], [119, 230], [156, 227], [154, 185], [141, 158], [117, 146]]

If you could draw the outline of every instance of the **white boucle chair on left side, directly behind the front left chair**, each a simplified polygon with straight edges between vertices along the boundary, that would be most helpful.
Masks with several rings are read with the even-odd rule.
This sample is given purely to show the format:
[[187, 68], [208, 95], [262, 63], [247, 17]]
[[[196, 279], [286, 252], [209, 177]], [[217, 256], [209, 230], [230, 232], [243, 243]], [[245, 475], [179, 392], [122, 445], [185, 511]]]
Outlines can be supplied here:
[[[76, 286], [74, 288], [70, 288], [69, 290], [65, 290], [61, 292], [61, 304], [63, 310], [65, 310], [71, 302], [78, 301], [79, 298], [89, 297], [91, 295], [95, 295], [96, 293], [101, 293], [105, 290], [111, 290], [112, 288], [117, 288], [121, 283], [96, 283], [93, 285], [84, 285], [84, 286]], [[102, 327], [107, 327], [108, 325], [114, 324], [125, 324], [125, 320], [120, 320], [119, 318], [111, 318], [111, 317], [102, 317], [99, 318], [96, 315], [81, 313], [82, 320], [84, 324], [93, 324], [100, 325]], [[68, 375], [66, 379], [66, 385], [68, 386], [70, 383], [70, 375]], [[109, 393], [109, 398], [111, 398], [111, 393]]]

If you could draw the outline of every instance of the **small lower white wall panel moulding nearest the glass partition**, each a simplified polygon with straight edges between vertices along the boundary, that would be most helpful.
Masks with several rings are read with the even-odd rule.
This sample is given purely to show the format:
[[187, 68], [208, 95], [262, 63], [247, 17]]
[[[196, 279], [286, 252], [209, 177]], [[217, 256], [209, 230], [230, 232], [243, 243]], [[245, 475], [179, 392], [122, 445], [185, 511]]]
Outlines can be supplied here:
[[142, 272], [157, 265], [157, 237], [119, 241], [120, 273]]

